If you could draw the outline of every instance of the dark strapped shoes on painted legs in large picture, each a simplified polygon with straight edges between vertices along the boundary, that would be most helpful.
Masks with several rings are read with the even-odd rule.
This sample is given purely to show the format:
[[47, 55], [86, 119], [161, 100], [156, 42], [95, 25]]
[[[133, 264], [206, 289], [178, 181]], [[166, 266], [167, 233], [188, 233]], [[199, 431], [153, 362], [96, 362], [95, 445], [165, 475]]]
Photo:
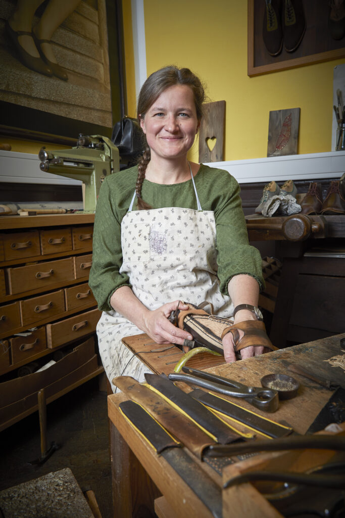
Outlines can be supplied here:
[[[14, 31], [8, 21], [6, 21], [6, 30], [12, 41], [12, 44], [14, 45], [14, 48], [17, 51], [19, 60], [24, 66], [31, 70], [34, 70], [35, 72], [38, 72], [39, 74], [43, 74], [44, 76], [56, 76], [59, 79], [62, 79], [63, 81], [67, 81], [68, 76], [64, 69], [57, 63], [53, 63], [52, 61], [50, 61], [42, 50], [41, 44], [51, 43], [50, 40], [38, 39], [34, 32]], [[30, 36], [31, 38], [33, 38], [40, 57], [34, 57], [28, 52], [26, 52], [26, 50], [21, 46], [19, 42], [20, 36]]]

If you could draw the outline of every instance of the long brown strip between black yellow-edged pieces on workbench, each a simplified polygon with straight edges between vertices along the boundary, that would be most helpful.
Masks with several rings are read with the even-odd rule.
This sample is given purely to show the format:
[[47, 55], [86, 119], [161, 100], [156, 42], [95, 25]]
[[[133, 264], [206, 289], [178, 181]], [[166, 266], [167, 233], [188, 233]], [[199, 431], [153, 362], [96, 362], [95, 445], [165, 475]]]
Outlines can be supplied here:
[[[157, 376], [159, 378], [159, 376]], [[130, 376], [118, 376], [113, 379], [113, 384], [126, 394], [132, 401], [141, 405], [174, 437], [181, 441], [199, 459], [206, 447], [214, 444], [214, 441], [201, 430], [181, 411], [173, 408], [167, 401], [142, 385]], [[235, 434], [233, 434], [235, 436]], [[238, 438], [238, 436], [236, 436]]]

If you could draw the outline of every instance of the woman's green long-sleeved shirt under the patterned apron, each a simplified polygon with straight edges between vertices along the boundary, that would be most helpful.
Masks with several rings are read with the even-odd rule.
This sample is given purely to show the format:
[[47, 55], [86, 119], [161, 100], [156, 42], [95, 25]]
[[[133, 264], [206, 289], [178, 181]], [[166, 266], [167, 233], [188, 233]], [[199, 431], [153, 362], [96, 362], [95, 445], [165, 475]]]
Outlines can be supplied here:
[[[122, 265], [121, 222], [128, 211], [137, 178], [138, 166], [108, 176], [97, 200], [89, 285], [103, 311], [111, 309], [109, 300], [118, 287], [130, 286], [128, 276], [119, 273]], [[201, 164], [194, 182], [202, 209], [212, 210], [215, 214], [220, 291], [228, 295], [228, 283], [238, 274], [251, 275], [262, 287], [261, 256], [248, 242], [237, 181], [227, 171]], [[154, 209], [198, 209], [191, 179], [172, 185], [144, 180], [142, 198]], [[136, 201], [133, 210], [137, 208]]]

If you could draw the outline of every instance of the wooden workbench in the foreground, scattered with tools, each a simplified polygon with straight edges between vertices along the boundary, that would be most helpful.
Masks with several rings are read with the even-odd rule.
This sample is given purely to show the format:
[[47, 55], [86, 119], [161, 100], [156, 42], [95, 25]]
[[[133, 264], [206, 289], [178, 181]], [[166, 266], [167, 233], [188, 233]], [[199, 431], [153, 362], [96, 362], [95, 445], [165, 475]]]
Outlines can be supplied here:
[[[247, 385], [256, 386], [260, 386], [260, 379], [268, 373], [279, 372], [292, 375], [301, 383], [296, 398], [281, 401], [274, 414], [267, 414], [256, 409], [255, 411], [263, 416], [269, 416], [274, 421], [288, 423], [297, 433], [305, 434], [333, 392], [324, 389], [316, 382], [291, 373], [289, 365], [293, 363], [302, 365], [316, 377], [343, 385], [344, 370], [341, 367], [333, 367], [325, 361], [343, 354], [340, 348], [341, 338], [345, 338], [345, 333], [273, 351], [234, 364], [222, 364], [207, 370]], [[166, 516], [190, 516], [191, 518], [193, 516], [198, 518], [212, 516], [167, 461], [156, 455], [148, 443], [124, 419], [118, 410], [118, 405], [126, 399], [127, 397], [122, 393], [108, 397], [113, 444], [111, 455], [114, 516], [122, 518], [144, 516], [143, 506], [153, 509], [153, 500], [160, 494], [164, 496], [164, 502], [171, 510], [171, 514], [166, 514]], [[245, 401], [241, 400], [241, 405], [253, 410], [253, 407]], [[197, 462], [199, 463], [199, 461]], [[221, 476], [205, 463], [199, 464], [221, 487]], [[149, 477], [155, 485], [149, 483], [145, 485], [141, 478], [143, 474], [147, 482]], [[232, 514], [227, 514], [226, 518], [232, 518]], [[238, 514], [236, 518], [238, 518]]]

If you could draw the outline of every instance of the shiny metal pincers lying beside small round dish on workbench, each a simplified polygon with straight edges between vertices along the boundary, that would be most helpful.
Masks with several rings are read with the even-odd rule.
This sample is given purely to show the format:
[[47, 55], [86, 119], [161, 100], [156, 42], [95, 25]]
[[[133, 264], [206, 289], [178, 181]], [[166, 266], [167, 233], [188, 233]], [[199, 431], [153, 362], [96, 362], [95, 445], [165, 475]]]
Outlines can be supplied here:
[[239, 381], [229, 380], [228, 378], [222, 378], [221, 376], [188, 367], [182, 367], [182, 370], [184, 373], [173, 372], [169, 374], [168, 378], [170, 381], [192, 383], [226, 396], [241, 397], [254, 407], [265, 412], [275, 412], [278, 408], [279, 397], [276, 390], [247, 386], [239, 383]]

